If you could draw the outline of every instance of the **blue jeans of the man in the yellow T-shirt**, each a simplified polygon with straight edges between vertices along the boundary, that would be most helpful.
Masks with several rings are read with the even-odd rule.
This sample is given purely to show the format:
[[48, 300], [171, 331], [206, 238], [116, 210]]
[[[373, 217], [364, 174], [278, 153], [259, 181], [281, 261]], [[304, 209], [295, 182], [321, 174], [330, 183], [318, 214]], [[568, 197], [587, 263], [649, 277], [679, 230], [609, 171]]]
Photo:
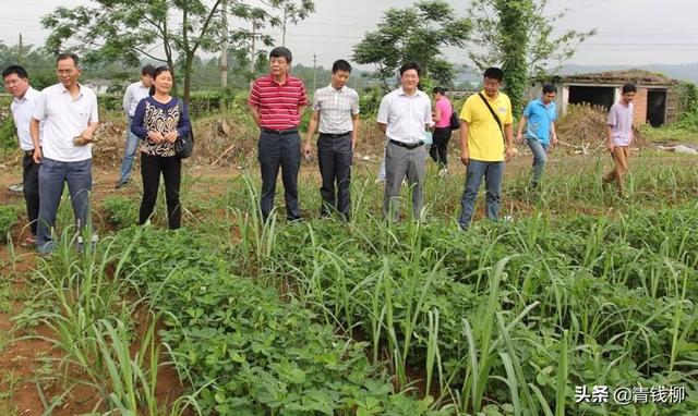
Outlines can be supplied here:
[[458, 224], [461, 229], [468, 229], [472, 220], [472, 212], [476, 208], [478, 189], [484, 176], [484, 187], [486, 191], [486, 215], [491, 220], [496, 221], [500, 212], [500, 200], [502, 193], [502, 179], [504, 178], [504, 161], [485, 162], [470, 159], [466, 169], [466, 188], [460, 198], [460, 218]]

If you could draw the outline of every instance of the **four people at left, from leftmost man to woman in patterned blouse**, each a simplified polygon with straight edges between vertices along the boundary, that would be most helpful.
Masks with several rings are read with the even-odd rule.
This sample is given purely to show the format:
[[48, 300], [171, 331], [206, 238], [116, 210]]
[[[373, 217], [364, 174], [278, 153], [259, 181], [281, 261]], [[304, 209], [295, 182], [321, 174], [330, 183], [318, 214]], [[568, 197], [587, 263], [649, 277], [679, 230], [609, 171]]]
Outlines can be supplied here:
[[[13, 96], [10, 108], [24, 151], [23, 193], [32, 235], [23, 243], [36, 245], [40, 254], [55, 249], [53, 228], [65, 184], [77, 229], [87, 228], [92, 232], [89, 194], [93, 136], [99, 124], [97, 96], [79, 82], [82, 69], [77, 56], [59, 53], [56, 68], [59, 83], [40, 93], [29, 85], [24, 68], [11, 65], [2, 72], [4, 87]], [[141, 84], [139, 88], [130, 88], [127, 95], [130, 98], [124, 99], [124, 110], [130, 117], [124, 159], [130, 159], [124, 161], [117, 187], [128, 183], [141, 143], [140, 223], [145, 223], [153, 213], [161, 174], [169, 225], [176, 229], [181, 222], [181, 160], [174, 155], [174, 144], [191, 131], [186, 106], [170, 96], [172, 73], [167, 66], [144, 68]], [[83, 235], [77, 238], [79, 248], [85, 244]], [[96, 242], [94, 232], [87, 237], [89, 244]]]

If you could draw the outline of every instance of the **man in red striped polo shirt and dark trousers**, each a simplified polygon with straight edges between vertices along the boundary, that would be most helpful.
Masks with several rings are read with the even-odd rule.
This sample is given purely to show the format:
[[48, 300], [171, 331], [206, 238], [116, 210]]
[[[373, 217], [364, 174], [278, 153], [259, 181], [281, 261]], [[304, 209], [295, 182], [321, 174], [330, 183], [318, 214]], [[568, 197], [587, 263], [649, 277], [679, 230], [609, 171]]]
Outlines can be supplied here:
[[281, 167], [286, 218], [300, 220], [298, 205], [298, 171], [301, 167], [301, 138], [298, 125], [308, 96], [300, 78], [288, 73], [291, 66], [291, 51], [277, 47], [269, 52], [269, 74], [257, 78], [250, 90], [250, 112], [260, 126], [257, 145], [262, 171], [262, 196], [260, 209], [264, 221], [274, 208], [276, 178]]

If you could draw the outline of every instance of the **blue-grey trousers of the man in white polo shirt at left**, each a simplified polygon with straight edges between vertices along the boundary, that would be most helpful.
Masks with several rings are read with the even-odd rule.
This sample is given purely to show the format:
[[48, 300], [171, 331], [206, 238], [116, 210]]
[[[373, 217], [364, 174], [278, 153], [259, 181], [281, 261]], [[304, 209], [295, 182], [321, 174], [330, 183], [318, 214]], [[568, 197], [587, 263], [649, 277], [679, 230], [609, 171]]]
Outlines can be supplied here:
[[76, 162], [61, 162], [41, 158], [39, 167], [39, 217], [36, 246], [41, 253], [50, 253], [53, 247], [51, 229], [56, 224], [58, 206], [68, 182], [73, 213], [79, 229], [89, 221], [89, 192], [92, 191], [92, 159]]

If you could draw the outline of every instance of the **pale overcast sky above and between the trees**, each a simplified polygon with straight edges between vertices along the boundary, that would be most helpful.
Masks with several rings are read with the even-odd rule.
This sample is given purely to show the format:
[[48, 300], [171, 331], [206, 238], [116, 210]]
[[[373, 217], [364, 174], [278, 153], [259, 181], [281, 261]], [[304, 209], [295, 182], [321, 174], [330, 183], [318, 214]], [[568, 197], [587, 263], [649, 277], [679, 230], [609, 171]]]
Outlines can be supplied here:
[[[257, 0], [250, 0], [255, 2]], [[469, 0], [449, 0], [461, 15]], [[0, 0], [2, 23], [0, 39], [17, 42], [22, 33], [25, 44], [41, 45], [47, 32], [40, 16], [56, 7], [87, 3], [86, 0]], [[315, 13], [298, 26], [289, 26], [287, 46], [298, 63], [312, 65], [313, 54], [325, 68], [338, 58], [349, 58], [353, 45], [363, 34], [375, 28], [389, 8], [405, 8], [412, 0], [315, 0]], [[550, 0], [547, 14], [567, 8], [562, 29], [597, 28], [598, 35], [587, 40], [569, 63], [643, 64], [698, 62], [698, 0]], [[280, 45], [280, 29], [269, 32]], [[448, 50], [448, 58], [468, 63], [466, 53]]]

